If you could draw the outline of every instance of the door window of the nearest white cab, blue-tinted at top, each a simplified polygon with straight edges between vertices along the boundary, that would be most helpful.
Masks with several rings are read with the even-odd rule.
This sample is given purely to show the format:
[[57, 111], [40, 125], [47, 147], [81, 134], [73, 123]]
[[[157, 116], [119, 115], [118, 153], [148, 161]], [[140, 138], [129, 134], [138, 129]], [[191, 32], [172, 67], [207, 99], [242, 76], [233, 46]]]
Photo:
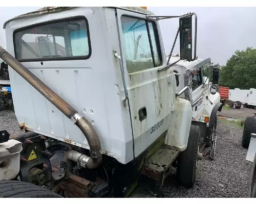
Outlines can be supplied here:
[[127, 71], [160, 66], [162, 59], [154, 22], [122, 16], [121, 24]]

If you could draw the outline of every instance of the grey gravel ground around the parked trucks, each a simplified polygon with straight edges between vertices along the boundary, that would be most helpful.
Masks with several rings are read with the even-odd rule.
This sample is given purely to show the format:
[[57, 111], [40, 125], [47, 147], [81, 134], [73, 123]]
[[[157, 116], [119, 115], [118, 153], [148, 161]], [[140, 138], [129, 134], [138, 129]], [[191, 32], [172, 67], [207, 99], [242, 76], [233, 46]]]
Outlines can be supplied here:
[[[0, 111], [0, 130], [20, 133], [13, 111]], [[247, 197], [252, 163], [245, 160], [241, 146], [243, 129], [236, 124], [218, 122], [215, 160], [198, 162], [197, 182], [191, 189], [180, 187], [175, 175], [167, 177], [165, 197]]]

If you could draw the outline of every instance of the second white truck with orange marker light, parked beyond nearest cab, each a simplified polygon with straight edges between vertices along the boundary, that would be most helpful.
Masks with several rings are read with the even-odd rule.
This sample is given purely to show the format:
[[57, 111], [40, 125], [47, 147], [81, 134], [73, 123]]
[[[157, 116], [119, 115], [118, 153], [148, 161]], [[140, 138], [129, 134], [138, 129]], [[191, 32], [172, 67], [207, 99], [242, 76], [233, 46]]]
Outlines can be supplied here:
[[[170, 58], [170, 64], [179, 60], [179, 57]], [[193, 120], [203, 121], [207, 123], [207, 128], [201, 136], [201, 144], [207, 147], [214, 141], [210, 151], [210, 158], [214, 159], [214, 150], [216, 148], [216, 126], [217, 126], [217, 111], [221, 111], [222, 104], [220, 103], [220, 94], [217, 92], [219, 76], [213, 75], [214, 66], [210, 66], [210, 58], [199, 59], [193, 62], [179, 61], [172, 69], [175, 72], [176, 86], [178, 91], [182, 91], [188, 84], [190, 84], [189, 92], [182, 93], [181, 98], [190, 101], [193, 107]], [[212, 75], [213, 82], [209, 83], [209, 78], [204, 77], [203, 67], [210, 67], [209, 74]], [[216, 67], [219, 69], [218, 67]], [[212, 138], [214, 137], [214, 138]], [[204, 138], [204, 139], [203, 139]]]

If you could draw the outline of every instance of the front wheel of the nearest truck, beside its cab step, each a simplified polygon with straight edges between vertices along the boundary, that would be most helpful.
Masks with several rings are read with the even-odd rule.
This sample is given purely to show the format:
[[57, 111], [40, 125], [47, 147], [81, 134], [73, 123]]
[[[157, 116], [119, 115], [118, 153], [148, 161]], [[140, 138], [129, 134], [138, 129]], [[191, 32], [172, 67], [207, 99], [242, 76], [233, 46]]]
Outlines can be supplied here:
[[177, 175], [182, 186], [191, 188], [196, 182], [200, 128], [191, 125], [187, 148], [178, 159]]

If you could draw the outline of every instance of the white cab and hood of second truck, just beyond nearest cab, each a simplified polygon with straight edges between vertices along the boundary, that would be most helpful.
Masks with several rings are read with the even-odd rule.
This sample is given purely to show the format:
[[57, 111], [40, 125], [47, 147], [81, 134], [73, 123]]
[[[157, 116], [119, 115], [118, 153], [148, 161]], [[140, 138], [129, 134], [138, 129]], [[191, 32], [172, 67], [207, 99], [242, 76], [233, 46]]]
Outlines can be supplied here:
[[[172, 57], [170, 59], [172, 59], [170, 61], [171, 64], [177, 61], [179, 57]], [[205, 117], [210, 116], [212, 109], [220, 101], [220, 94], [218, 92], [214, 94], [210, 93], [212, 83], [209, 83], [209, 79], [204, 77], [203, 67], [210, 62], [210, 58], [197, 58], [193, 62], [179, 61], [172, 67], [174, 72], [177, 73], [176, 86], [178, 91], [191, 84], [191, 94], [189, 94], [191, 97], [187, 99], [192, 104], [193, 118], [195, 120], [205, 121]], [[181, 97], [186, 98], [185, 94], [182, 94]]]

